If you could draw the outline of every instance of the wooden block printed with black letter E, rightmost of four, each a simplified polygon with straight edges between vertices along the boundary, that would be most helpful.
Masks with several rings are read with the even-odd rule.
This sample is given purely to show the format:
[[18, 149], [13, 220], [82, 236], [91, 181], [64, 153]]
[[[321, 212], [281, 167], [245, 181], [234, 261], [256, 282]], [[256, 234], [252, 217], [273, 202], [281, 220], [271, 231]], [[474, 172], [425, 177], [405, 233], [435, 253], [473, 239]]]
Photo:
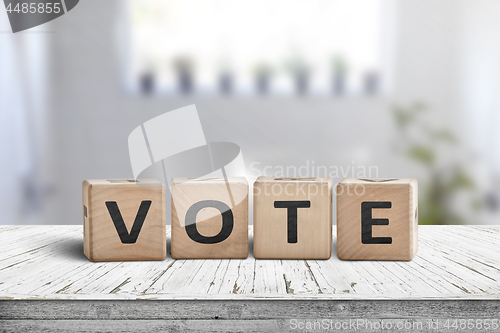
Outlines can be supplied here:
[[416, 179], [346, 178], [337, 185], [337, 255], [411, 260], [417, 253]]

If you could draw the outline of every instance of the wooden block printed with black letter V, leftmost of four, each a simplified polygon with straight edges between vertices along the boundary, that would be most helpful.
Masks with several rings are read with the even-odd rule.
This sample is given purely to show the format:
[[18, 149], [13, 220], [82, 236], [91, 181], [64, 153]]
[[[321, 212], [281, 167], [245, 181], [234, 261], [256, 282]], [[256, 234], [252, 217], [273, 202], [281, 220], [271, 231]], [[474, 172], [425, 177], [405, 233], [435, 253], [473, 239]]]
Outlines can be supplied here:
[[167, 256], [165, 186], [155, 179], [85, 180], [83, 252], [91, 261]]

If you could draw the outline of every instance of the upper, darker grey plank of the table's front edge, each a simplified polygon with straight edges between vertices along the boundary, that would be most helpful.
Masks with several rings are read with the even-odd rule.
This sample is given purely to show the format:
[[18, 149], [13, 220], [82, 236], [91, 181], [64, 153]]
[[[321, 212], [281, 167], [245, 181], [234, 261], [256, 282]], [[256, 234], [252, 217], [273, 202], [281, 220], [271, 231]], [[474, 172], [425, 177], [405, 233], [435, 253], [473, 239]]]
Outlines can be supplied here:
[[0, 320], [498, 318], [494, 300], [0, 301]]

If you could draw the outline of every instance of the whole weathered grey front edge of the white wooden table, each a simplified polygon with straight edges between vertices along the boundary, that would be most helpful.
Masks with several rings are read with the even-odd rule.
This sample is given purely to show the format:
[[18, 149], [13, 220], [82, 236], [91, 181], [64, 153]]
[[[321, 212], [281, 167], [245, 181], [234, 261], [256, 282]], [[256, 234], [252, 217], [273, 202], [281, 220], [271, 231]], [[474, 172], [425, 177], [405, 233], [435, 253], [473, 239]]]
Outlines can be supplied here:
[[411, 328], [404, 331], [457, 332], [445, 327], [447, 319], [491, 322], [499, 312], [500, 302], [493, 300], [4, 300], [0, 327], [6, 332], [296, 332], [298, 322], [362, 320], [363, 326], [342, 331], [380, 331], [365, 326], [368, 320], [391, 324], [385, 332], [401, 332], [397, 325], [408, 323]]

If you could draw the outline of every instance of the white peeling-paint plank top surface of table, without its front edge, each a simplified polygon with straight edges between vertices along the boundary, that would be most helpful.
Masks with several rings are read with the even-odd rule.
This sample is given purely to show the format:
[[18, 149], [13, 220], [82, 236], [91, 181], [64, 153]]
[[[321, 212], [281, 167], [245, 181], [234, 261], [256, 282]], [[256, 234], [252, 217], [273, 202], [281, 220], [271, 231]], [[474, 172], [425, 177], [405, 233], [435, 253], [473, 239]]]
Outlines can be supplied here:
[[[419, 229], [419, 252], [412, 261], [343, 261], [335, 255], [255, 260], [250, 254], [247, 259], [94, 263], [83, 255], [80, 226], [1, 226], [0, 298], [500, 299], [500, 226]], [[251, 241], [252, 228], [249, 233]]]

